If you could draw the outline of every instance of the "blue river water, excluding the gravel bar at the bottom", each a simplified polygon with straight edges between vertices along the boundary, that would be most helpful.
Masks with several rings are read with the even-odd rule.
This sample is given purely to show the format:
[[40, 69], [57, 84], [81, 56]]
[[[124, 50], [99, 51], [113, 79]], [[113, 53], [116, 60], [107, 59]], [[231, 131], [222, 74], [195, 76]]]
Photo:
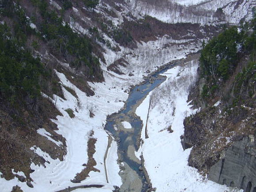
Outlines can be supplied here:
[[[139, 148], [142, 121], [136, 116], [135, 110], [138, 107], [138, 104], [143, 101], [150, 91], [165, 81], [165, 78], [159, 78], [158, 75], [166, 72], [166, 70], [173, 67], [173, 65], [174, 64], [170, 64], [166, 66], [166, 68], [161, 71], [154, 73], [152, 78], [146, 79], [143, 84], [133, 87], [124, 108], [118, 113], [109, 116], [105, 125], [105, 129], [111, 132], [115, 140], [118, 141], [119, 159], [122, 162], [126, 162], [131, 169], [136, 171], [139, 179], [142, 181], [141, 191], [143, 192], [146, 191], [149, 185], [147, 184], [143, 171], [139, 170], [139, 167], [142, 166], [142, 164], [138, 159], [131, 157], [131, 154], [134, 154], [134, 150], [130, 150], [128, 153], [128, 147], [130, 149], [135, 148], [136, 151]], [[132, 129], [124, 129], [121, 125], [122, 121], [128, 121], [132, 125]], [[127, 191], [129, 191], [129, 188]]]

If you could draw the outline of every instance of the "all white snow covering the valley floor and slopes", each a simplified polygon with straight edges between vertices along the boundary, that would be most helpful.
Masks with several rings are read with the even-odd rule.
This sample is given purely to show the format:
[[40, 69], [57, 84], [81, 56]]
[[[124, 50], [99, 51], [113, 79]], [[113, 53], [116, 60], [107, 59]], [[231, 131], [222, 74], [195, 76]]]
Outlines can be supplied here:
[[[117, 15], [117, 18], [107, 15], [101, 6], [97, 6], [95, 12], [108, 17], [112, 20], [114, 25], [118, 26], [123, 23], [124, 18], [133, 20], [129, 17], [129, 14], [135, 15], [137, 19], [143, 19], [143, 15], [151, 15], [157, 19], [167, 23], [177, 22], [191, 22], [191, 23], [207, 23], [208, 21], [214, 22], [215, 19], [209, 15], [195, 16], [179, 11], [172, 10], [169, 7], [159, 8], [145, 4], [145, 2], [137, 0], [126, 0], [128, 5], [116, 4], [120, 6], [120, 11], [117, 11], [112, 6], [103, 3], [100, 4], [112, 10]], [[181, 5], [191, 6], [200, 4], [206, 0], [174, 0]], [[233, 0], [231, 0], [233, 1]], [[210, 11], [216, 11], [217, 8], [222, 5], [226, 5], [230, 0], [212, 0], [207, 1], [205, 4], [201, 4], [200, 8]], [[250, 12], [246, 12], [246, 9], [251, 9], [250, 3], [252, 0], [244, 1], [242, 6], [237, 10], [233, 10], [233, 7], [226, 6], [223, 10], [228, 15], [228, 20], [237, 22], [237, 18], [246, 16], [248, 18]], [[61, 7], [53, 0], [50, 0], [57, 9]], [[78, 9], [72, 8], [75, 14], [79, 14]], [[182, 9], [184, 10], [184, 9]], [[212, 12], [211, 12], [212, 13]], [[211, 14], [210, 14], [211, 15]], [[90, 18], [81, 18], [85, 23], [89, 23]], [[30, 23], [32, 28], [36, 28], [33, 23]], [[83, 28], [79, 23], [75, 23], [74, 29], [81, 34], [88, 34], [88, 30]], [[203, 30], [201, 32], [205, 33]], [[194, 34], [187, 34], [184, 36], [193, 37]], [[103, 34], [105, 40], [109, 40], [111, 47], [120, 47], [120, 51], [116, 52], [103, 44], [100, 44], [105, 50], [103, 53], [106, 64], [101, 62], [103, 75], [105, 82], [103, 83], [91, 83], [88, 82], [90, 87], [94, 90], [95, 95], [87, 97], [85, 93], [79, 90], [73, 85], [64, 74], [56, 72], [56, 75], [60, 78], [60, 83], [64, 86], [72, 88], [78, 95], [78, 99], [68, 92], [64, 87], [64, 97], [66, 100], [59, 96], [53, 95], [53, 98], [49, 98], [47, 95], [42, 95], [49, 98], [53, 103], [56, 101], [56, 107], [60, 110], [63, 116], [57, 116], [56, 120], [52, 120], [57, 124], [59, 130], [56, 132], [66, 139], [67, 154], [64, 156], [64, 161], [60, 159], [52, 159], [49, 154], [42, 151], [39, 147], [33, 146], [30, 148], [35, 154], [45, 158], [48, 162], [45, 165], [31, 164], [30, 168], [34, 169], [34, 173], [30, 174], [30, 177], [34, 180], [32, 184], [34, 188], [29, 188], [26, 183], [18, 181], [15, 177], [10, 181], [6, 181], [4, 178], [0, 178], [0, 186], [4, 186], [3, 191], [11, 191], [12, 186], [18, 184], [23, 191], [57, 191], [68, 186], [78, 186], [83, 184], [102, 184], [103, 188], [87, 188], [76, 189], [75, 191], [112, 191], [113, 185], [120, 186], [121, 178], [117, 174], [120, 169], [117, 164], [117, 143], [112, 141], [104, 165], [104, 154], [108, 146], [108, 134], [103, 129], [106, 123], [106, 117], [109, 114], [118, 112], [123, 106], [124, 102], [128, 98], [128, 94], [124, 93], [130, 85], [135, 85], [143, 80], [143, 75], [146, 75], [146, 71], [154, 71], [157, 67], [168, 63], [170, 60], [184, 58], [188, 53], [195, 53], [200, 48], [203, 39], [181, 39], [174, 40], [168, 35], [163, 37], [157, 37], [155, 41], [137, 42], [136, 49], [129, 49], [120, 46], [113, 39], [109, 38], [106, 34]], [[166, 46], [171, 45], [171, 46]], [[47, 55], [47, 54], [46, 54]], [[129, 65], [124, 68], [120, 67], [120, 71], [125, 75], [117, 75], [114, 72], [108, 71], [107, 66], [112, 64], [115, 60], [123, 58]], [[54, 58], [56, 59], [56, 58]], [[65, 68], [69, 68], [69, 64], [60, 62]], [[180, 143], [180, 136], [183, 134], [183, 119], [189, 114], [196, 113], [190, 109], [190, 105], [186, 102], [188, 90], [195, 82], [196, 78], [196, 63], [190, 63], [186, 67], [175, 67], [168, 70], [165, 74], [167, 79], [156, 90], [152, 91], [143, 103], [136, 110], [136, 113], [141, 117], [144, 122], [142, 130], [142, 139], [144, 144], [141, 145], [139, 151], [136, 152], [136, 156], [139, 158], [141, 154], [145, 159], [145, 166], [148, 170], [149, 176], [154, 187], [157, 187], [158, 191], [169, 191], [173, 188], [173, 191], [183, 191], [187, 188], [187, 191], [197, 191], [200, 188], [201, 191], [223, 191], [226, 189], [224, 186], [219, 186], [211, 181], [204, 180], [197, 172], [196, 169], [187, 166], [187, 159], [190, 150], [183, 151]], [[70, 68], [69, 68], [70, 69]], [[71, 69], [70, 69], [71, 70]], [[128, 76], [129, 73], [134, 76]], [[158, 95], [161, 93], [161, 97]], [[147, 109], [149, 102], [151, 101], [151, 109], [149, 113], [147, 132], [148, 139], [145, 139], [145, 122], [147, 120]], [[69, 117], [65, 109], [72, 109], [75, 117]], [[93, 110], [94, 117], [90, 118], [89, 110]], [[156, 118], [157, 117], [157, 118]], [[132, 128], [128, 122], [123, 122], [125, 128]], [[167, 128], [171, 126], [174, 130], [173, 133], [168, 133]], [[82, 166], [87, 163], [87, 142], [90, 132], [93, 131], [93, 138], [97, 139], [95, 143], [96, 152], [93, 158], [96, 161], [96, 169], [100, 172], [90, 172], [86, 180], [79, 184], [72, 183], [70, 180], [74, 179], [76, 173], [81, 172], [84, 168]], [[38, 134], [46, 137], [51, 142], [56, 143], [58, 146], [63, 143], [56, 141], [51, 137], [51, 134], [43, 128], [37, 130]], [[144, 134], [143, 134], [144, 133]], [[151, 157], [154, 157], [154, 162]], [[106, 173], [105, 173], [106, 166]], [[45, 168], [46, 167], [46, 168]], [[14, 170], [13, 170], [14, 171]], [[1, 173], [0, 173], [1, 174]], [[23, 175], [23, 172], [17, 174]], [[44, 177], [42, 177], [42, 175]], [[107, 183], [106, 175], [109, 183]], [[164, 181], [164, 182], [163, 182]], [[200, 191], [199, 190], [199, 191]]]

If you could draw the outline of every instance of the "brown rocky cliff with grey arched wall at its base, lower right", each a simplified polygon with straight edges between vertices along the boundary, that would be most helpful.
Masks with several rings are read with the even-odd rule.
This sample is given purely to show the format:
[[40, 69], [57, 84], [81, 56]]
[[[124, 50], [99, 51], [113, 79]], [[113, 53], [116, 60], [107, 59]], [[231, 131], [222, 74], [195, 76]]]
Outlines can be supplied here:
[[193, 147], [188, 165], [219, 184], [256, 192], [255, 109], [223, 111], [210, 107], [184, 121], [182, 146]]

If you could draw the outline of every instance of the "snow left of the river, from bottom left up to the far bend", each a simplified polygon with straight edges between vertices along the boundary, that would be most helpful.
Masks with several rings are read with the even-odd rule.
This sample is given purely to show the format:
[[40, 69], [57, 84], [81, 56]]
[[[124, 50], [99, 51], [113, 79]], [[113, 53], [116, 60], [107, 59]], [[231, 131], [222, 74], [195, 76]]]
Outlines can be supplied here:
[[[103, 184], [104, 186], [113, 190], [113, 185], [120, 186], [121, 178], [117, 174], [119, 166], [117, 164], [117, 144], [111, 143], [109, 153], [105, 161], [107, 167], [107, 176], [109, 183], [106, 180], [105, 166], [104, 166], [104, 154], [108, 145], [108, 134], [103, 129], [106, 122], [107, 115], [118, 112], [123, 106], [124, 102], [128, 98], [128, 94], [124, 90], [128, 89], [130, 85], [140, 83], [143, 80], [143, 74], [146, 74], [146, 70], [151, 71], [156, 69], [156, 66], [167, 63], [169, 60], [176, 58], [182, 58], [188, 52], [188, 49], [192, 49], [196, 44], [193, 42], [190, 44], [190, 40], [176, 41], [169, 37], [158, 38], [157, 41], [149, 41], [147, 43], [138, 43], [138, 48], [132, 50], [133, 55], [129, 55], [131, 49], [121, 47], [120, 52], [113, 52], [106, 48], [105, 60], [107, 65], [102, 64], [103, 75], [105, 82], [103, 83], [89, 83], [95, 95], [87, 97], [85, 93], [79, 90], [73, 85], [64, 74], [56, 72], [56, 75], [60, 78], [60, 83], [66, 87], [69, 87], [75, 91], [78, 95], [78, 99], [71, 93], [62, 87], [64, 92], [64, 99], [59, 96], [53, 95], [53, 98], [49, 98], [43, 94], [44, 97], [49, 98], [53, 103], [56, 101], [56, 107], [59, 109], [63, 116], [57, 116], [57, 120], [53, 120], [57, 124], [59, 130], [56, 132], [66, 139], [67, 154], [64, 156], [64, 161], [59, 159], [50, 158], [49, 154], [42, 151], [39, 147], [31, 147], [34, 153], [45, 158], [48, 162], [45, 165], [31, 164], [31, 169], [34, 169], [34, 173], [30, 174], [33, 178], [32, 184], [34, 188], [29, 188], [26, 183], [20, 183], [17, 178], [6, 181], [0, 179], [0, 185], [6, 186], [4, 191], [11, 191], [12, 186], [19, 182], [19, 186], [23, 191], [41, 191], [43, 188], [46, 191], [57, 191], [68, 186], [78, 186], [81, 184]], [[167, 42], [177, 43], [170, 48], [162, 48]], [[188, 45], [183, 46], [182, 43], [188, 42]], [[115, 42], [112, 41], [114, 44]], [[180, 51], [175, 49], [181, 48]], [[196, 50], [195, 50], [196, 51]], [[114, 60], [123, 57], [129, 61], [128, 68], [122, 68], [126, 73], [134, 70], [134, 76], [117, 75], [114, 72], [107, 71], [107, 66]], [[68, 64], [62, 63], [64, 67], [68, 67]], [[75, 117], [69, 117], [65, 109], [72, 109]], [[94, 111], [94, 117], [90, 118], [89, 110]], [[125, 125], [125, 127], [127, 127]], [[128, 126], [129, 127], [129, 126]], [[94, 131], [93, 137], [97, 139], [95, 143], [95, 150], [93, 157], [97, 163], [94, 166], [99, 169], [100, 172], [90, 172], [86, 180], [79, 184], [72, 183], [70, 180], [74, 179], [76, 173], [81, 172], [84, 168], [82, 166], [87, 163], [87, 141], [91, 131]], [[45, 129], [39, 129], [38, 133], [51, 140], [51, 134], [46, 132]], [[51, 140], [52, 142], [59, 141]], [[59, 145], [61, 143], [58, 143]], [[45, 168], [46, 167], [46, 168]], [[41, 177], [44, 175], [45, 177]], [[102, 190], [102, 189], [101, 189]], [[109, 189], [108, 189], [109, 190]]]

